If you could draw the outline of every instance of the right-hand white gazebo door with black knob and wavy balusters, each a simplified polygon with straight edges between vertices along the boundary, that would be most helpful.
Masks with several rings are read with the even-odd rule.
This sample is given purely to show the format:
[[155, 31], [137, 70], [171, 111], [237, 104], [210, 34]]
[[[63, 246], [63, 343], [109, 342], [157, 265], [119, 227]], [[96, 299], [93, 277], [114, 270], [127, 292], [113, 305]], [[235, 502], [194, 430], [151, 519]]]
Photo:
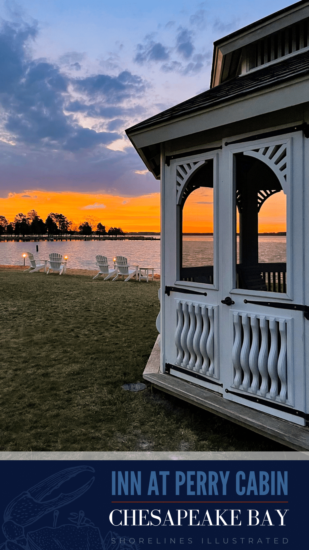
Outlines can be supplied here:
[[[219, 186], [222, 288], [233, 302], [219, 306], [224, 394], [305, 425], [304, 137], [236, 140], [223, 142]], [[263, 225], [277, 233], [284, 213], [285, 258], [284, 235], [261, 235]]]

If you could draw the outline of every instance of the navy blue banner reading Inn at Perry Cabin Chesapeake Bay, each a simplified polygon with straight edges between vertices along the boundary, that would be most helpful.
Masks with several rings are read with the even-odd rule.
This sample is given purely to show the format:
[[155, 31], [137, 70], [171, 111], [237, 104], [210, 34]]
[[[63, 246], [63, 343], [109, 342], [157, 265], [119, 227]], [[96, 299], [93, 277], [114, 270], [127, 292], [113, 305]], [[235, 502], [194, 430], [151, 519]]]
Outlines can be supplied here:
[[3, 460], [1, 472], [0, 550], [308, 546], [306, 460]]

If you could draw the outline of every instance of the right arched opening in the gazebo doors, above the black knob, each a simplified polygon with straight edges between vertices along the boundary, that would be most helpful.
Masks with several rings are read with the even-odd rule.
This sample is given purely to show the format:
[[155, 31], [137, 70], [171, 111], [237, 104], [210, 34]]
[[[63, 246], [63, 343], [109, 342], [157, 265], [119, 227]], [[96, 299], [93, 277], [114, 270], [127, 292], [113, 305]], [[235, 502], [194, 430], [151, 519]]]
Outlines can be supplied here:
[[286, 292], [286, 196], [267, 164], [236, 157], [236, 288]]

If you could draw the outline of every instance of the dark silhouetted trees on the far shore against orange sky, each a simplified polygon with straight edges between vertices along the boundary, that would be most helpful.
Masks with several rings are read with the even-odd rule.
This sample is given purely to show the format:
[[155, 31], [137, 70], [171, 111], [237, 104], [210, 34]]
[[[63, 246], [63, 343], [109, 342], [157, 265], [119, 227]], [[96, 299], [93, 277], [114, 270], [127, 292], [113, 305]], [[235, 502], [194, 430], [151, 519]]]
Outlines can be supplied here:
[[70, 234], [70, 237], [76, 234], [80, 235], [124, 235], [123, 230], [120, 227], [110, 227], [106, 230], [98, 218], [94, 216], [86, 216], [85, 220], [76, 224], [71, 222], [63, 214], [51, 212], [45, 222], [38, 216], [35, 210], [30, 210], [27, 214], [20, 212], [16, 214], [14, 221], [9, 222], [4, 216], [0, 216], [0, 237], [1, 235], [7, 235], [12, 237], [25, 237], [31, 235], [32, 237], [42, 237], [42, 235], [48, 234], [48, 237], [61, 237], [62, 235]]

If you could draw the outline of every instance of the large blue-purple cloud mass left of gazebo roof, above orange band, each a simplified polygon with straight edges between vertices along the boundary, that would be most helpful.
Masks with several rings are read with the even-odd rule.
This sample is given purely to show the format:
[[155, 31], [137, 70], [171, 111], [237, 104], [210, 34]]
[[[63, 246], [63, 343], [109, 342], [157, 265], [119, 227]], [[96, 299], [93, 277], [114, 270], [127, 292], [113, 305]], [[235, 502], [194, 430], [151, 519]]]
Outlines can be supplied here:
[[82, 65], [78, 52], [58, 64], [34, 59], [37, 35], [35, 21], [0, 21], [0, 195], [85, 186], [93, 194], [157, 193], [159, 183], [138, 173], [145, 165], [120, 132], [147, 117], [147, 80], [129, 70], [78, 76], [70, 70]]

